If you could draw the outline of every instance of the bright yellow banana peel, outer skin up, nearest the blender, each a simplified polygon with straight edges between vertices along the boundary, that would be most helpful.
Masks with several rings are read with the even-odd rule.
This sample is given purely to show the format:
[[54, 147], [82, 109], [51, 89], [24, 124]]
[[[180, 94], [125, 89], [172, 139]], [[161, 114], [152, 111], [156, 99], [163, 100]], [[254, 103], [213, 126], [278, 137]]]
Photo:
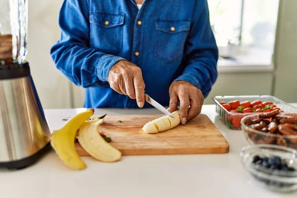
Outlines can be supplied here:
[[94, 114], [94, 109], [78, 113], [70, 118], [59, 130], [51, 134], [50, 144], [59, 158], [71, 169], [82, 170], [86, 168], [85, 162], [77, 154], [74, 141], [76, 132], [84, 122]]

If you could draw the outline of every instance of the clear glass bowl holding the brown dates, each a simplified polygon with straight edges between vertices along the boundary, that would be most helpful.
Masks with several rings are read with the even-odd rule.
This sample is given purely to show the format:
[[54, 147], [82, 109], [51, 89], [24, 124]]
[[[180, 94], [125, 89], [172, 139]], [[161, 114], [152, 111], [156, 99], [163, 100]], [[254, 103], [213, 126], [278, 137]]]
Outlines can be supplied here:
[[[289, 116], [289, 117], [292, 117], [292, 116]], [[250, 145], [268, 144], [268, 145], [277, 145], [277, 146], [281, 146], [281, 147], [289, 147], [289, 148], [297, 149], [297, 136], [296, 135], [285, 136], [285, 135], [271, 134], [271, 133], [262, 132], [259, 130], [252, 129], [245, 124], [246, 120], [249, 118], [251, 120], [254, 120], [254, 119], [258, 118], [258, 114], [257, 115], [248, 115], [241, 120], [242, 131], [247, 139], [247, 142]]]

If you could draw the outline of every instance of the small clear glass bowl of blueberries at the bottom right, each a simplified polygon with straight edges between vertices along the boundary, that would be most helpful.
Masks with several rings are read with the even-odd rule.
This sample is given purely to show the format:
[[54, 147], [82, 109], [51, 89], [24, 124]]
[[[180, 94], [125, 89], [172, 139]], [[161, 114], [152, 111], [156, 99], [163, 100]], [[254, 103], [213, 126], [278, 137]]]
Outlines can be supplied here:
[[256, 184], [276, 192], [297, 191], [297, 150], [276, 145], [249, 145], [240, 152]]

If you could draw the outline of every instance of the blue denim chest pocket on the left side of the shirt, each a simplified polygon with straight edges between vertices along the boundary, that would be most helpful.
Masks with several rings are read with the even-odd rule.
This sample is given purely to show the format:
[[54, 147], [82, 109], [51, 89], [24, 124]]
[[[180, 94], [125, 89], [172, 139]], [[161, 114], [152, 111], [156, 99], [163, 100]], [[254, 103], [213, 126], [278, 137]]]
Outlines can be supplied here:
[[90, 12], [90, 47], [117, 53], [123, 45], [124, 13]]

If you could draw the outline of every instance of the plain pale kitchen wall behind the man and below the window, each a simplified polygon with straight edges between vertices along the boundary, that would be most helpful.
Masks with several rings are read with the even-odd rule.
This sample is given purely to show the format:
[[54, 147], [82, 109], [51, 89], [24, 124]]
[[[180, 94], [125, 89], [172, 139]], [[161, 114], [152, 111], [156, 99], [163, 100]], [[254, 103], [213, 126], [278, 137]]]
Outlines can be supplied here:
[[[57, 16], [62, 0], [29, 2], [27, 59], [44, 108], [82, 107], [84, 90], [72, 85], [53, 65], [49, 50], [59, 38]], [[219, 73], [205, 104], [216, 95], [272, 95], [297, 101], [297, 0], [281, 0], [275, 54], [276, 71]], [[295, 41], [295, 42], [294, 42]], [[289, 89], [291, 91], [289, 91]], [[294, 91], [295, 90], [295, 91]]]

